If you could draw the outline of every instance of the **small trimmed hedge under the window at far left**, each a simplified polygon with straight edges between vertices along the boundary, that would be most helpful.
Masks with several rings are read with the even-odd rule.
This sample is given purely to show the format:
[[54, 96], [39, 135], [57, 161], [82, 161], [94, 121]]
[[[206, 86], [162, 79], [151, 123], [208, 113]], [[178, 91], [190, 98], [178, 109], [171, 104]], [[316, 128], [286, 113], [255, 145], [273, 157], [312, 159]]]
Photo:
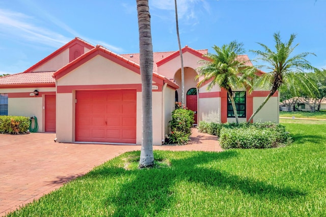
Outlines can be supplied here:
[[0, 133], [28, 133], [30, 118], [22, 116], [0, 116]]

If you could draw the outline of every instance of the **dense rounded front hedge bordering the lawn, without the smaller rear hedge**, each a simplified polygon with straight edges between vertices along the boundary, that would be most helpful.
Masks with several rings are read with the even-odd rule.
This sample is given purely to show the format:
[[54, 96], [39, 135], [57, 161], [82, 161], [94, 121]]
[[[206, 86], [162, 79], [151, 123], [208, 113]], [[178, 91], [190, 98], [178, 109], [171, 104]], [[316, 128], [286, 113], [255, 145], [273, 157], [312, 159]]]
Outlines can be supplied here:
[[223, 127], [220, 145], [229, 148], [275, 148], [291, 142], [285, 127], [279, 124], [259, 123], [234, 128]]

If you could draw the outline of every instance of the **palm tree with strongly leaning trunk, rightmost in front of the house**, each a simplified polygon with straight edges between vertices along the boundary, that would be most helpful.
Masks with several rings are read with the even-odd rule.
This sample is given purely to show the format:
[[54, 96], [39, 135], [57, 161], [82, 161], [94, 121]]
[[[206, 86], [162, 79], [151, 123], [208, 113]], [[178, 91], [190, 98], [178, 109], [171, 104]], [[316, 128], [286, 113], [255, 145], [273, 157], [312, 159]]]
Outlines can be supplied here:
[[270, 87], [270, 91], [261, 105], [249, 118], [248, 123], [252, 121], [254, 116], [261, 110], [261, 108], [266, 104], [268, 99], [273, 96], [273, 94], [281, 87], [286, 86], [286, 88], [292, 91], [295, 95], [297, 92], [297, 87], [300, 87], [302, 90], [308, 91], [312, 94], [312, 89], [316, 89], [314, 84], [310, 81], [308, 75], [304, 70], [315, 70], [305, 58], [308, 55], [315, 55], [310, 52], [303, 52], [297, 55], [292, 55], [292, 52], [298, 44], [294, 46], [293, 41], [296, 35], [291, 34], [288, 42], [283, 43], [281, 41], [280, 33], [274, 34], [275, 49], [273, 51], [269, 49], [266, 45], [258, 43], [262, 46], [263, 51], [261, 50], [251, 50], [256, 55], [258, 55], [257, 60], [261, 60], [267, 63], [265, 67], [269, 70], [269, 73], [264, 73], [259, 76], [256, 80], [256, 86], [258, 87]]

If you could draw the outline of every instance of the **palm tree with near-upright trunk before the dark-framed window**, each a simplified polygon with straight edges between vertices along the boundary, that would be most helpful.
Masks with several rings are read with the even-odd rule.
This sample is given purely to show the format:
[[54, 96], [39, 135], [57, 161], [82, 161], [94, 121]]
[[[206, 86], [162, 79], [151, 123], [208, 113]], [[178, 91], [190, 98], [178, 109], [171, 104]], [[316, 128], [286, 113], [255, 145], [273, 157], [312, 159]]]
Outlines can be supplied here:
[[246, 65], [246, 62], [240, 61], [237, 56], [244, 52], [243, 44], [232, 41], [224, 44], [222, 47], [213, 46], [216, 54], [208, 53], [204, 57], [209, 61], [200, 61], [203, 66], [197, 68], [197, 78], [203, 77], [198, 83], [198, 87], [211, 80], [207, 90], [211, 90], [214, 85], [219, 85], [225, 89], [232, 103], [233, 113], [236, 123], [239, 123], [236, 110], [233, 90], [238, 88], [248, 88], [252, 91], [252, 80], [255, 76], [255, 68]]

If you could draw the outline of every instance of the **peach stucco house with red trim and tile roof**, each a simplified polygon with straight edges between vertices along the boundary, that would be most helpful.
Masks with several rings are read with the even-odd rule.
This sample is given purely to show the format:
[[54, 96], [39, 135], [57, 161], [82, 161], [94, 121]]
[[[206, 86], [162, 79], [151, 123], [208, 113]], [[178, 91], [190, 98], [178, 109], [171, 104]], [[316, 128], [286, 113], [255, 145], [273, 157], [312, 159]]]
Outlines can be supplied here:
[[[201, 121], [234, 122], [225, 90], [197, 88], [198, 61], [207, 49], [182, 48], [185, 105]], [[248, 56], [239, 56], [251, 64]], [[75, 38], [22, 73], [0, 77], [0, 115], [36, 116], [39, 132], [56, 132], [58, 142], [141, 144], [142, 85], [139, 53], [117, 55]], [[180, 101], [179, 51], [154, 52], [153, 144], [169, 134], [175, 101]], [[37, 92], [36, 92], [37, 91]], [[35, 94], [37, 93], [37, 94]], [[268, 91], [235, 93], [246, 121]], [[279, 120], [278, 93], [254, 121]]]

